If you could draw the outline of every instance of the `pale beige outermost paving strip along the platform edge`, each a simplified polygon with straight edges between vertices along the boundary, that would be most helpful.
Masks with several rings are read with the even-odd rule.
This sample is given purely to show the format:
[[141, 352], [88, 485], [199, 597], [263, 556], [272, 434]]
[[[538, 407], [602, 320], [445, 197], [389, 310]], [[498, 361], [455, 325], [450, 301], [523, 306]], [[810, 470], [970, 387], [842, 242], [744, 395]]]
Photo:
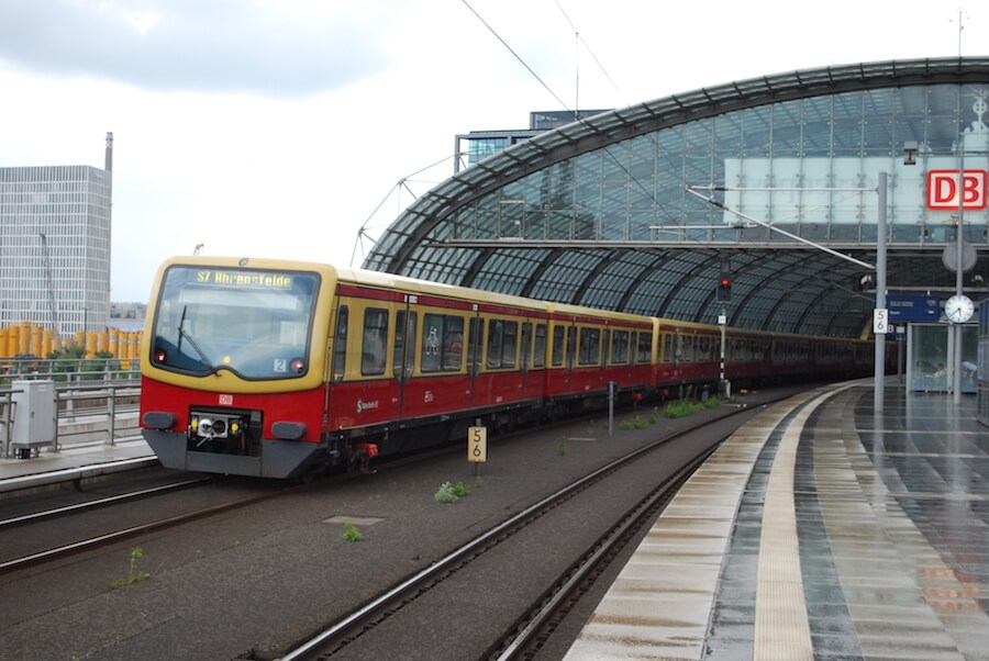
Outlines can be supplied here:
[[[742, 491], [769, 435], [814, 394], [767, 408], [694, 473], [619, 574], [567, 661], [701, 658]], [[773, 583], [778, 581], [767, 585]]]

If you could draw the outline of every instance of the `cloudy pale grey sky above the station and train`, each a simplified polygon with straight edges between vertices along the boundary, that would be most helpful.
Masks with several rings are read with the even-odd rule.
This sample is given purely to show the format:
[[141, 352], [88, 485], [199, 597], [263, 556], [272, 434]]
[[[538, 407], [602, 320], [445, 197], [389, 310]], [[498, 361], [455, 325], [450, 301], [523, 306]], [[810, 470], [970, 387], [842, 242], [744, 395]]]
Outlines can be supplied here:
[[[962, 53], [986, 55], [989, 7], [960, 9]], [[794, 69], [956, 56], [958, 12], [915, 0], [0, 0], [0, 166], [102, 167], [113, 132], [111, 298], [146, 301], [157, 265], [198, 244], [341, 266], [356, 253], [359, 266], [360, 228], [379, 235], [449, 176], [458, 133]]]

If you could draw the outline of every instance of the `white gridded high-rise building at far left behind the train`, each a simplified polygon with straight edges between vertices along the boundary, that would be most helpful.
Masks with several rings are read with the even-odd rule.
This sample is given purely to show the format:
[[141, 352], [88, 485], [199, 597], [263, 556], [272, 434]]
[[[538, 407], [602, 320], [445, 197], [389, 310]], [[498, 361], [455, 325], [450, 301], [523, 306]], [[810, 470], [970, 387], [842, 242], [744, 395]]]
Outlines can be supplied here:
[[110, 316], [111, 173], [0, 168], [0, 327], [103, 329]]

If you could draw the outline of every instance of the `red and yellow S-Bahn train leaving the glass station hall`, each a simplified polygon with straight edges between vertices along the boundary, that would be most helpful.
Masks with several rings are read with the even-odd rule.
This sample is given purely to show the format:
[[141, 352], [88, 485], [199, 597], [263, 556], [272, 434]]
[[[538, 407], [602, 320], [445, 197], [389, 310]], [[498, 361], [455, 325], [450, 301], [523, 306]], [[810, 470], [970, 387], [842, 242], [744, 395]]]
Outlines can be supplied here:
[[[297, 477], [716, 383], [721, 328], [265, 259], [166, 261], [141, 424], [168, 468]], [[867, 373], [871, 344], [729, 328], [733, 382]]]

